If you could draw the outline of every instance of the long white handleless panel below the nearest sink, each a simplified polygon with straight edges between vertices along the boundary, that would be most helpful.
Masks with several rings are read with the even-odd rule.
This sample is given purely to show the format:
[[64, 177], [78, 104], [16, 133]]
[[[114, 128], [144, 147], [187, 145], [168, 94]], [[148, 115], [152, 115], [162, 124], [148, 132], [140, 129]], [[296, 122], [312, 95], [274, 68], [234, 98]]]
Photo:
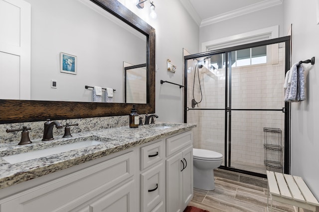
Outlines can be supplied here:
[[[115, 185], [132, 178], [136, 152], [130, 151], [7, 198], [1, 212], [73, 210]], [[87, 206], [88, 204], [86, 204]], [[83, 206], [84, 207], [84, 206]], [[83, 208], [82, 207], [82, 208]]]

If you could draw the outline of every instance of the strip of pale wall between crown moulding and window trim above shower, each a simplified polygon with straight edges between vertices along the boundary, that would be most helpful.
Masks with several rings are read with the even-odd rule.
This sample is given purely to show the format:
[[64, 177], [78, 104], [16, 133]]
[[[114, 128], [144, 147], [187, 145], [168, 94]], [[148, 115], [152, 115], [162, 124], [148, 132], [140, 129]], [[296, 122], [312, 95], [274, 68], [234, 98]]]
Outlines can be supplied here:
[[282, 37], [285, 29], [283, 27], [283, 4], [201, 27], [199, 43], [275, 25], [279, 25], [279, 36]]

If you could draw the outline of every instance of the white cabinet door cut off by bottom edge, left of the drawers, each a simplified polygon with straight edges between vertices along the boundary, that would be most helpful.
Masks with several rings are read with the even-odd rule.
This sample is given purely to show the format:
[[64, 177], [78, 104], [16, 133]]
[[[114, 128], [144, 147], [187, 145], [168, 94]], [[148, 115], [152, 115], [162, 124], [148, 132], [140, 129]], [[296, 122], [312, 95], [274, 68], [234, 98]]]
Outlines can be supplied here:
[[89, 212], [134, 212], [136, 202], [134, 198], [137, 196], [135, 190], [132, 179], [90, 204]]

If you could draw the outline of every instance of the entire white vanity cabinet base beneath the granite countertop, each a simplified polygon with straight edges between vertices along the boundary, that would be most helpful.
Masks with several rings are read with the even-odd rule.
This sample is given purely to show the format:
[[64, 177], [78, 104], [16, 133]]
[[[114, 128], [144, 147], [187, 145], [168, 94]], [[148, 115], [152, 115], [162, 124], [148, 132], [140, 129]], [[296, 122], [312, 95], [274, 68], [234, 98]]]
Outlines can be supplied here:
[[0, 212], [182, 212], [192, 169], [186, 131], [4, 188]]

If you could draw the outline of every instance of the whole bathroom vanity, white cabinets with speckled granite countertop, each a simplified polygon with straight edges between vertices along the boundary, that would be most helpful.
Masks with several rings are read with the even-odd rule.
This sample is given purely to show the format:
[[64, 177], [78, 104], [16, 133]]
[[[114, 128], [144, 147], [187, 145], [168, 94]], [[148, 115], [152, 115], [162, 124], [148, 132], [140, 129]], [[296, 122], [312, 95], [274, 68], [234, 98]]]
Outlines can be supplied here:
[[[193, 194], [194, 124], [128, 126], [0, 148], [0, 211], [181, 212]], [[80, 141], [98, 144], [11, 164]]]

